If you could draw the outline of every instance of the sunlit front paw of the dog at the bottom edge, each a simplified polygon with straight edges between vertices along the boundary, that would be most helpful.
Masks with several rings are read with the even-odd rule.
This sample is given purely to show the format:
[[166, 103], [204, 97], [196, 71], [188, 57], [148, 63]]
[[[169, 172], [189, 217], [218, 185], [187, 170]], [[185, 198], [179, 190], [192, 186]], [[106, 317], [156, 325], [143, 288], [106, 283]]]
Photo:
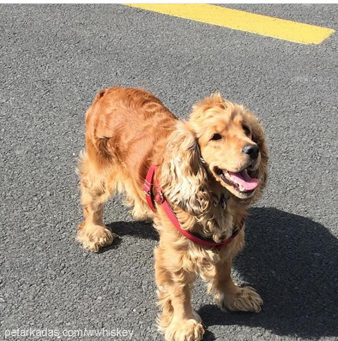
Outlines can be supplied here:
[[166, 329], [165, 339], [167, 341], [201, 341], [204, 328], [201, 322], [194, 319], [171, 321]]

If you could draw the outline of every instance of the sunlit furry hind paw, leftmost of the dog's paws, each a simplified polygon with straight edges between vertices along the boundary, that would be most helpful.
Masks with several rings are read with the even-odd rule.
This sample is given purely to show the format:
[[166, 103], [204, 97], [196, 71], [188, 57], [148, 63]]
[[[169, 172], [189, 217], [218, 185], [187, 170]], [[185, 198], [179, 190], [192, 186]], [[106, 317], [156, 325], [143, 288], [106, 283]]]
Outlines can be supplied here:
[[97, 252], [101, 246], [112, 244], [114, 234], [107, 227], [82, 224], [78, 227], [76, 239], [82, 243], [84, 248]]

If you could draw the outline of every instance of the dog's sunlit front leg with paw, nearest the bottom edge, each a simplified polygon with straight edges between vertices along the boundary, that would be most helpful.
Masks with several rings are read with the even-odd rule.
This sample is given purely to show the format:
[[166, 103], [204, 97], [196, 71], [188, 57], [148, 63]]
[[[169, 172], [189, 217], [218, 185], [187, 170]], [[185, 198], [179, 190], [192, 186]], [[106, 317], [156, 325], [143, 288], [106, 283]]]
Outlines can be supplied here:
[[159, 305], [162, 307], [158, 324], [165, 339], [202, 340], [202, 321], [190, 302], [190, 288], [196, 275], [182, 269], [180, 257], [173, 254], [173, 250], [162, 248], [161, 244], [155, 249], [155, 275]]

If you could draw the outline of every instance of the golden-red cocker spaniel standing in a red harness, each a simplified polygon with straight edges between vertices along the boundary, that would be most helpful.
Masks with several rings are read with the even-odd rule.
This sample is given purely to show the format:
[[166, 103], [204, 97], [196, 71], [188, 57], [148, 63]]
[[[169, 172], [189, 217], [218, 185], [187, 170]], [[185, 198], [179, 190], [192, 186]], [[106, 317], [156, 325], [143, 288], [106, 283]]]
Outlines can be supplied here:
[[85, 220], [77, 239], [94, 252], [113, 242], [103, 209], [116, 191], [125, 193], [135, 219], [153, 221], [165, 339], [202, 340], [204, 326], [190, 303], [197, 275], [220, 308], [259, 312], [256, 290], [231, 279], [247, 209], [267, 181], [267, 147], [256, 116], [216, 93], [183, 121], [145, 90], [112, 87], [96, 95], [85, 120], [78, 166]]

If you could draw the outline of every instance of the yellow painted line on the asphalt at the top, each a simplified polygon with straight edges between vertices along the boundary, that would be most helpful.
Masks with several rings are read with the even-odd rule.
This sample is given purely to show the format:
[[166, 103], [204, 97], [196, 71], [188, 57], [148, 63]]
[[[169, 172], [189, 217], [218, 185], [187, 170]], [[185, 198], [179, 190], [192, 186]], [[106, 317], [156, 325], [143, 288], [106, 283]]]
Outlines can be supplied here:
[[331, 28], [216, 5], [134, 3], [128, 6], [301, 44], [320, 44], [335, 32]]

